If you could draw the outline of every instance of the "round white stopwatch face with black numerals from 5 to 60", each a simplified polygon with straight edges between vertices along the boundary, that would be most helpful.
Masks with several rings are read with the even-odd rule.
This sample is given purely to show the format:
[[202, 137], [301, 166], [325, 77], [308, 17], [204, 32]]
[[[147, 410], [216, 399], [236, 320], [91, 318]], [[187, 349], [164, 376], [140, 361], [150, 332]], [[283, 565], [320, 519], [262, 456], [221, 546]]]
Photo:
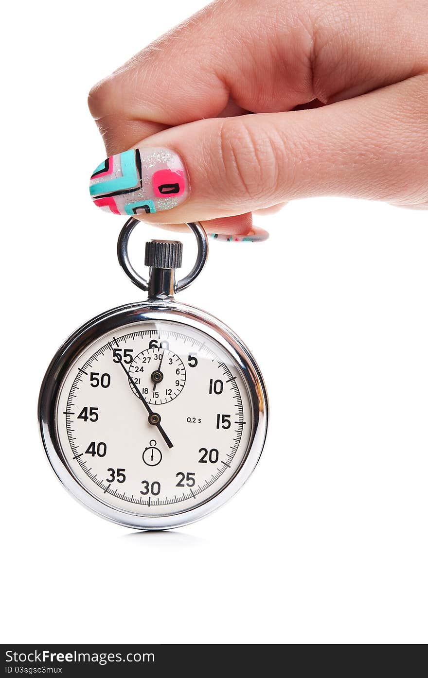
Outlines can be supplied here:
[[197, 519], [174, 516], [208, 513], [246, 464], [260, 416], [254, 384], [225, 338], [197, 324], [119, 325], [64, 365], [59, 456], [79, 498], [106, 517], [144, 527]]

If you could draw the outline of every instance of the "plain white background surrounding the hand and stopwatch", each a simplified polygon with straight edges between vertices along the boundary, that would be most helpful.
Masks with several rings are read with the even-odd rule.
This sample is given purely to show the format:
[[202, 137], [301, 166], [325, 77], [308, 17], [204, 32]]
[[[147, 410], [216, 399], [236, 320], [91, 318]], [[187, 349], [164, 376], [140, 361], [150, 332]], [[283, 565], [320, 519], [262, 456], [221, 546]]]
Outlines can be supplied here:
[[[45, 459], [52, 355], [140, 298], [115, 259], [122, 220], [87, 193], [104, 159], [87, 92], [203, 4], [3, 15], [2, 640], [425, 642], [427, 212], [297, 201], [258, 221], [268, 243], [212, 244], [181, 300], [244, 338], [271, 401], [262, 460], [215, 515], [138, 534], [83, 509]], [[142, 226], [141, 247], [157, 233]]]

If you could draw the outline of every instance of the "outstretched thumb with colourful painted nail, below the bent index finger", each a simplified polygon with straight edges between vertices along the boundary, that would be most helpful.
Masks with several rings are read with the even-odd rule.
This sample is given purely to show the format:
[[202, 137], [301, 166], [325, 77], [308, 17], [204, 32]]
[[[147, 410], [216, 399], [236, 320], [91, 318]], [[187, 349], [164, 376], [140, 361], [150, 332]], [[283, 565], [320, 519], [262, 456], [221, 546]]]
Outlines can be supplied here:
[[[419, 76], [323, 108], [166, 129], [138, 145], [142, 188], [115, 195], [115, 208], [153, 212], [158, 222], [189, 222], [312, 195], [426, 203], [427, 94], [428, 76]], [[114, 157], [119, 179], [123, 155]], [[164, 161], [171, 175], [163, 174], [166, 165], [159, 169]], [[163, 176], [168, 182], [161, 185]], [[177, 191], [168, 203], [157, 197], [164, 190]], [[168, 214], [161, 211], [166, 207]]]

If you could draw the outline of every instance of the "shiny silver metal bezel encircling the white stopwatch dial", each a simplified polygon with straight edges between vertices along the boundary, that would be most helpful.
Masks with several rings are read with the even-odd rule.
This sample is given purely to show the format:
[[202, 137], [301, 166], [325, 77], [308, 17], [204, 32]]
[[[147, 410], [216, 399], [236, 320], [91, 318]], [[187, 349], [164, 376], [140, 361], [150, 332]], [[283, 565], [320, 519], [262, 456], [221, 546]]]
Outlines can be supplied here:
[[[237, 362], [248, 388], [252, 422], [248, 450], [235, 475], [216, 494], [179, 513], [140, 516], [106, 504], [73, 474], [62, 450], [57, 426], [57, 403], [62, 383], [77, 357], [96, 340], [119, 327], [144, 321], [181, 323], [207, 334]], [[260, 459], [267, 435], [269, 404], [262, 375], [254, 357], [239, 337], [214, 316], [175, 301], [138, 302], [117, 306], [81, 325], [60, 346], [47, 369], [39, 396], [39, 426], [43, 447], [56, 476], [77, 501], [100, 517], [138, 530], [169, 530], [193, 523], [225, 504], [248, 480]]]

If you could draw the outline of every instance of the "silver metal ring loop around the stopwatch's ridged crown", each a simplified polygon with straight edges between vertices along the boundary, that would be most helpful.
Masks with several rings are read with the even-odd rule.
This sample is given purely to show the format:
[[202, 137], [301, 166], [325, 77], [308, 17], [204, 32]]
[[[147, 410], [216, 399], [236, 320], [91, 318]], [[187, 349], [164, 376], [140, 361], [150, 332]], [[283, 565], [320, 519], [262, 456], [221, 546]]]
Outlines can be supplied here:
[[[128, 241], [130, 235], [137, 224], [140, 224], [140, 220], [134, 219], [133, 217], [128, 219], [123, 226], [121, 232], [119, 233], [119, 238], [117, 239], [117, 258], [119, 264], [125, 271], [126, 275], [132, 280], [134, 285], [140, 287], [140, 290], [147, 292], [149, 290], [149, 283], [145, 278], [143, 278], [139, 273], [136, 272], [134, 266], [130, 262], [128, 256]], [[186, 224], [191, 229], [192, 233], [197, 239], [197, 258], [195, 266], [193, 266], [189, 275], [185, 276], [176, 284], [176, 292], [180, 290], [185, 290], [186, 287], [189, 287], [191, 283], [197, 278], [199, 273], [201, 273], [203, 266], [205, 266], [207, 257], [208, 257], [208, 237], [205, 232], [205, 229], [199, 222], [191, 222]]]

